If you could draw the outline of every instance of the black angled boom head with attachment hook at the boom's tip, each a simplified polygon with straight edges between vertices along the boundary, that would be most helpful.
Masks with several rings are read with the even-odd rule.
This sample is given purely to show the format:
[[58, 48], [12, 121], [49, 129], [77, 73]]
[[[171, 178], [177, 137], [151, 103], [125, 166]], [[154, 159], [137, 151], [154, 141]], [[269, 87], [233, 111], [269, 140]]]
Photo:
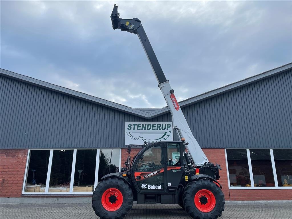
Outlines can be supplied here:
[[112, 10], [110, 18], [112, 20], [112, 29], [114, 30], [121, 29], [121, 31], [137, 34], [137, 29], [141, 26], [141, 21], [138, 18], [121, 19], [117, 4], [114, 4], [114, 9]]

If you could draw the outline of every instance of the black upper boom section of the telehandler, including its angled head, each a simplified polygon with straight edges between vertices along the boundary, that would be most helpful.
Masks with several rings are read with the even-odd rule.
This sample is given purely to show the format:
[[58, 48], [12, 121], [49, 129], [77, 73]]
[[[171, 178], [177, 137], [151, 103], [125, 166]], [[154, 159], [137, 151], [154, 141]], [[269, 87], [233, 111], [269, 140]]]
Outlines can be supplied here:
[[151, 64], [151, 67], [155, 73], [157, 81], [159, 81], [159, 84], [167, 81], [161, 69], [161, 66], [157, 60], [157, 57], [154, 53], [154, 50], [150, 44], [150, 41], [145, 33], [145, 30], [141, 24], [141, 21], [138, 18], [133, 19], [119, 18], [118, 6], [116, 4], [114, 5], [114, 9], [112, 10], [111, 20], [113, 29], [121, 29], [122, 31], [127, 31], [138, 35], [141, 44], [144, 48], [144, 51], [147, 55], [147, 58]]

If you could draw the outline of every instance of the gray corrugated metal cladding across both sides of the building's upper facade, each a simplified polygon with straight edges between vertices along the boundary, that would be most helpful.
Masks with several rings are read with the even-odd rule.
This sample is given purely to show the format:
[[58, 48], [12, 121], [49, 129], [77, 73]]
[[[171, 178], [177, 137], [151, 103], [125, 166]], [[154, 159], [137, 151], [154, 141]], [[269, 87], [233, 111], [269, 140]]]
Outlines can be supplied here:
[[[291, 148], [291, 70], [183, 108], [206, 148]], [[125, 121], [147, 120], [0, 76], [0, 148], [121, 147]], [[176, 138], [176, 136], [174, 136]]]

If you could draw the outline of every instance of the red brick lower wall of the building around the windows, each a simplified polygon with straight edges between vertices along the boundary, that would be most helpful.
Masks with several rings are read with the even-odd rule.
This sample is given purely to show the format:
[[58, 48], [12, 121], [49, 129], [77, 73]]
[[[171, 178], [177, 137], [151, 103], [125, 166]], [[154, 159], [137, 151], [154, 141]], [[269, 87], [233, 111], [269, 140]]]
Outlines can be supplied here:
[[[140, 151], [140, 148], [132, 148], [131, 159]], [[275, 190], [237, 190], [228, 189], [227, 168], [224, 149], [203, 149], [209, 161], [221, 164], [220, 183], [223, 187], [225, 200], [291, 200], [292, 192], [286, 189]], [[128, 157], [127, 149], [121, 149], [121, 167]], [[0, 150], [0, 197], [20, 197], [25, 173], [27, 149], [1, 149]]]

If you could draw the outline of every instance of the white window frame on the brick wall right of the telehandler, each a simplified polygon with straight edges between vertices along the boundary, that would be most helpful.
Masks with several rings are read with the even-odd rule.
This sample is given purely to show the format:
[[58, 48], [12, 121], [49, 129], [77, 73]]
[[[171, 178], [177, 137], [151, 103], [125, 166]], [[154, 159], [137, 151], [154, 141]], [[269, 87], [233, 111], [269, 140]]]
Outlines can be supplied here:
[[275, 160], [274, 160], [274, 153], [273, 150], [281, 150], [281, 149], [287, 149], [287, 148], [273, 148], [273, 149], [267, 149], [267, 148], [250, 148], [252, 150], [257, 150], [257, 149], [267, 149], [270, 150], [270, 156], [271, 156], [271, 162], [272, 162], [272, 170], [273, 170], [273, 175], [274, 175], [274, 181], [275, 181], [275, 186], [271, 187], [255, 187], [254, 186], [254, 181], [253, 181], [253, 173], [252, 173], [252, 166], [251, 166], [251, 154], [249, 152], [250, 149], [244, 149], [246, 150], [247, 153], [247, 162], [248, 162], [248, 169], [249, 169], [249, 174], [251, 178], [251, 187], [236, 187], [236, 186], [230, 186], [230, 180], [229, 180], [229, 168], [228, 168], [228, 161], [227, 161], [227, 150], [239, 150], [239, 149], [244, 149], [244, 148], [225, 148], [225, 162], [226, 162], [226, 173], [227, 173], [227, 179], [228, 179], [228, 188], [229, 189], [247, 189], [247, 190], [265, 190], [265, 189], [290, 189], [292, 190], [292, 187], [286, 187], [286, 186], [279, 186], [278, 185], [278, 180], [277, 180], [277, 173], [276, 173], [276, 165], [275, 165]]

